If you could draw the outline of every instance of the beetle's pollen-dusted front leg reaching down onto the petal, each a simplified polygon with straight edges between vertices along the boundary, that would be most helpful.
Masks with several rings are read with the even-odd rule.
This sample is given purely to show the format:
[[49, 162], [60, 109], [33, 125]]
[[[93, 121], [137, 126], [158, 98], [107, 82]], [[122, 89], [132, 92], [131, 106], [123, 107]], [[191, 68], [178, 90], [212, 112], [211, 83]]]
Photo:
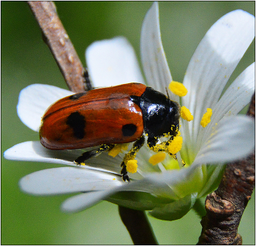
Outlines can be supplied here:
[[126, 180], [129, 181], [129, 176], [127, 174], [127, 161], [133, 160], [135, 158], [140, 148], [143, 147], [144, 142], [145, 142], [145, 137], [142, 135], [139, 139], [135, 141], [135, 143], [132, 146], [132, 149], [129, 150], [129, 152], [124, 155], [124, 160], [121, 163], [121, 167], [122, 167], [121, 175], [124, 181]]

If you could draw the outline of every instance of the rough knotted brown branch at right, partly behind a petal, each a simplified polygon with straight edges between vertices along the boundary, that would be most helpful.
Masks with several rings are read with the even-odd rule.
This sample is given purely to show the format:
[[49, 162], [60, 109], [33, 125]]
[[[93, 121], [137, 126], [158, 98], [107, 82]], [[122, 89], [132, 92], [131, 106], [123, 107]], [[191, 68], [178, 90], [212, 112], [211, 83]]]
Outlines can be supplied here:
[[[247, 115], [255, 118], [255, 95]], [[238, 226], [255, 188], [255, 153], [228, 164], [219, 188], [206, 198], [198, 245], [241, 245]]]

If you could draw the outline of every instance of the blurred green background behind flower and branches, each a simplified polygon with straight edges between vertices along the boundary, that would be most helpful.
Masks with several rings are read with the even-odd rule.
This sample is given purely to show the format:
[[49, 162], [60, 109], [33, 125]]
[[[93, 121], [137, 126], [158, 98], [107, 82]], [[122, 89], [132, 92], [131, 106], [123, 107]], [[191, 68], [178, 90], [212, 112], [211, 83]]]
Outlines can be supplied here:
[[[58, 1], [57, 11], [84, 66], [91, 42], [126, 36], [139, 57], [140, 28], [151, 7], [148, 1]], [[255, 15], [254, 1], [159, 2], [162, 42], [173, 79], [182, 81], [189, 59], [208, 28], [222, 15], [244, 9]], [[232, 81], [255, 61], [255, 43], [241, 60]], [[16, 113], [21, 89], [32, 83], [67, 88], [31, 11], [22, 1], [1, 2], [1, 157], [19, 142], [37, 140]], [[121, 83], [121, 81], [120, 81]], [[37, 197], [18, 188], [21, 177], [56, 164], [7, 161], [1, 158], [1, 244], [131, 244], [118, 217], [118, 207], [102, 201], [89, 210], [65, 214], [59, 210], [69, 196]], [[160, 244], [195, 244], [200, 218], [190, 211], [181, 220], [149, 217]], [[255, 244], [255, 196], [249, 201], [238, 232], [244, 244]]]

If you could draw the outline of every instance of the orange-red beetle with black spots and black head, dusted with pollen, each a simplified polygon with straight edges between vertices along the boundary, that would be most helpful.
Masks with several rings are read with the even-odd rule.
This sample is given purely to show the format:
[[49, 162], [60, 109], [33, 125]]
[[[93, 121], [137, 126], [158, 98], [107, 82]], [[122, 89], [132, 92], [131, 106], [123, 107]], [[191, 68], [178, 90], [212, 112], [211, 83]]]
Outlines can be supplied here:
[[[52, 104], [42, 117], [41, 144], [50, 150], [96, 147], [77, 159], [82, 164], [116, 144], [134, 142], [124, 156], [121, 175], [129, 181], [127, 160], [147, 144], [155, 152], [166, 151], [178, 133], [180, 107], [165, 94], [140, 83], [97, 88], [64, 97]], [[169, 140], [157, 144], [160, 137]], [[169, 153], [172, 155], [171, 153]]]

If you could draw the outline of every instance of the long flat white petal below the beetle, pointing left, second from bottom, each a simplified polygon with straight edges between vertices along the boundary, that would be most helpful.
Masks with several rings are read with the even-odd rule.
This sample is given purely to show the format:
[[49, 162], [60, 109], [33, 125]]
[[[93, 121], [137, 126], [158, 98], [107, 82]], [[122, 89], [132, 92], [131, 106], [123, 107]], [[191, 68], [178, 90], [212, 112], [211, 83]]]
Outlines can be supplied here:
[[43, 169], [20, 180], [20, 189], [34, 195], [100, 191], [124, 185], [116, 174], [79, 167]]

